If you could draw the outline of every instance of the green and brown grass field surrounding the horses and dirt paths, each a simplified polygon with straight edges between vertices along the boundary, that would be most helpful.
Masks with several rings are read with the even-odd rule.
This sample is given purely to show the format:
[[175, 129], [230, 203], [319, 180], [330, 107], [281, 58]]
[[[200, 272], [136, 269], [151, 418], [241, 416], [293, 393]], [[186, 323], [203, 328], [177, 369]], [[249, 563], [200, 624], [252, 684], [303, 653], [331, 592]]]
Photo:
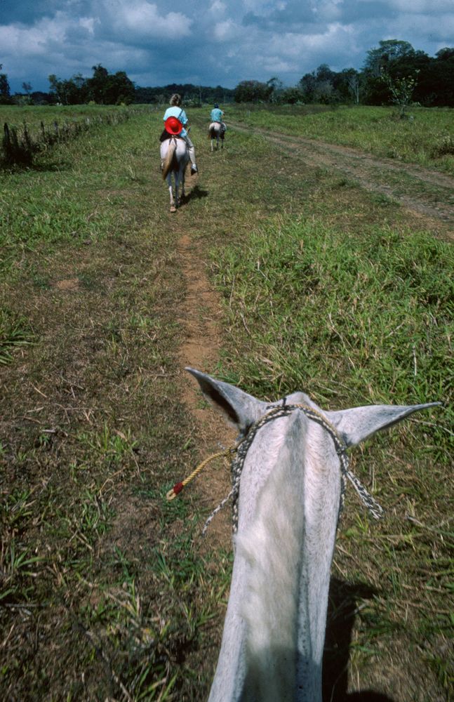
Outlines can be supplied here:
[[[418, 163], [448, 114], [415, 112], [412, 151], [396, 137], [410, 124], [381, 108], [229, 110], [378, 155], [395, 143]], [[200, 176], [173, 216], [161, 113], [145, 108], [0, 173], [1, 696], [208, 694], [229, 536], [201, 541], [211, 505], [196, 485], [165, 499], [205, 457], [181, 393], [185, 234], [220, 295], [222, 349], [201, 370], [267, 399], [305, 390], [325, 409], [443, 402], [351, 452], [387, 514], [370, 522], [348, 491], [325, 688], [334, 702], [448, 701], [452, 244], [326, 168], [300, 169], [295, 188], [288, 155], [260, 137], [229, 129], [211, 154], [207, 115], [189, 114]], [[425, 158], [450, 170], [448, 157]]]

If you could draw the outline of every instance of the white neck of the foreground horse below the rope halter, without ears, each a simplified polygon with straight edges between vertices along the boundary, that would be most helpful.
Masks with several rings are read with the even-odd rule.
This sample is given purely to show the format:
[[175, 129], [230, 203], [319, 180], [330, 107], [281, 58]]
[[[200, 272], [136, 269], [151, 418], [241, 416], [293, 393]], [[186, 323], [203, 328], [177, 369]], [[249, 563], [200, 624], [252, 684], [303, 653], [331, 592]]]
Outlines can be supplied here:
[[210, 700], [317, 702], [338, 458], [330, 437], [300, 413], [262, 432], [241, 477], [232, 588]]

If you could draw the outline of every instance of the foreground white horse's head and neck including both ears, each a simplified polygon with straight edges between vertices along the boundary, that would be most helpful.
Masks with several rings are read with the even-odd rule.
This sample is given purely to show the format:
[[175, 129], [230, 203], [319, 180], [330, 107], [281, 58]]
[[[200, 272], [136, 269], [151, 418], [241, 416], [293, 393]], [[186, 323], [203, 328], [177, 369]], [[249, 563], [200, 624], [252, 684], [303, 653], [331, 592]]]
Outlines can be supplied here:
[[439, 403], [323, 412], [295, 392], [269, 405], [187, 370], [244, 437], [237, 455], [246, 444], [232, 585], [209, 702], [321, 702], [345, 471], [352, 478], [345, 449]]

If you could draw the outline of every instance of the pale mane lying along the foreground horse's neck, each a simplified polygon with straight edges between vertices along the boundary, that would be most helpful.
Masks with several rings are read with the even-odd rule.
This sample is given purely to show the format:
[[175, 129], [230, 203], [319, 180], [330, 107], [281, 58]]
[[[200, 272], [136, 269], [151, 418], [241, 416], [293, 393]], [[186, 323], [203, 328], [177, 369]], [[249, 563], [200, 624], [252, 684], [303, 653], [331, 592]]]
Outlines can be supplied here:
[[[301, 431], [295, 416], [291, 433]], [[245, 699], [261, 702], [294, 696], [298, 650], [298, 541], [304, 530], [302, 467], [286, 447], [257, 499], [251, 526], [236, 538], [238, 555], [249, 565], [241, 614], [246, 622]], [[302, 488], [301, 488], [302, 489]]]

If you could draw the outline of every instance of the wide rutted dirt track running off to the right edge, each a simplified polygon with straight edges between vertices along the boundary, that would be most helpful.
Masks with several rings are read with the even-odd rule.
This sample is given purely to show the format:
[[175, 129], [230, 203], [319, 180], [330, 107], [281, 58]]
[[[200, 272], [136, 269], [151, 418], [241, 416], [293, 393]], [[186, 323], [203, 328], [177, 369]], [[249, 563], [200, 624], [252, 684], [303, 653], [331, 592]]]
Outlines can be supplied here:
[[351, 147], [239, 124], [229, 123], [229, 126], [291, 148], [292, 156], [309, 166], [340, 171], [366, 190], [386, 195], [413, 213], [432, 220], [429, 224], [435, 231], [454, 239], [454, 178], [415, 164], [374, 157]]

